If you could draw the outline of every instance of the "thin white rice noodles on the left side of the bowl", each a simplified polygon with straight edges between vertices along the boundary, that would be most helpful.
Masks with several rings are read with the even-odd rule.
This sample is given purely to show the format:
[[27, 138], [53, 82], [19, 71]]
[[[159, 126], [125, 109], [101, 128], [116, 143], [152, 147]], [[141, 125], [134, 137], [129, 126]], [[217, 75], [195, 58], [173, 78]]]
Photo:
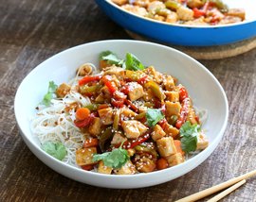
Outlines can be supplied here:
[[90, 104], [88, 97], [83, 97], [80, 93], [71, 91], [64, 99], [52, 99], [52, 105], [41, 108], [32, 120], [31, 130], [35, 134], [40, 143], [61, 142], [64, 144], [67, 155], [64, 162], [76, 165], [76, 150], [82, 147], [85, 135], [74, 125], [75, 111], [70, 109], [65, 112], [65, 108], [73, 103], [80, 106]]

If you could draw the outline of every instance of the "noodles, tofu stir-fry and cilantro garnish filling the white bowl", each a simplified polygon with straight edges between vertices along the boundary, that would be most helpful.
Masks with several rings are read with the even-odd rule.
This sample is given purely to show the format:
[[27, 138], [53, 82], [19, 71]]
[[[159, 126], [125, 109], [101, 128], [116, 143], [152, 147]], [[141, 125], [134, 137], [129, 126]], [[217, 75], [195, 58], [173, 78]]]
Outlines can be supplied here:
[[49, 155], [84, 170], [131, 175], [166, 169], [209, 141], [187, 89], [131, 53], [100, 55], [70, 83], [49, 82], [32, 130]]

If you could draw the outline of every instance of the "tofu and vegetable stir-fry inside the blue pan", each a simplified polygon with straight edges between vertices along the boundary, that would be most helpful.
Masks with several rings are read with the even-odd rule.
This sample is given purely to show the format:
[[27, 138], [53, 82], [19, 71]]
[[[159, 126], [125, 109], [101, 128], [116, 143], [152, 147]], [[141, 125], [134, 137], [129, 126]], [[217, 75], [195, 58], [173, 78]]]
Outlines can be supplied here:
[[112, 0], [139, 16], [171, 24], [226, 25], [245, 20], [243, 8], [229, 8], [221, 0]]

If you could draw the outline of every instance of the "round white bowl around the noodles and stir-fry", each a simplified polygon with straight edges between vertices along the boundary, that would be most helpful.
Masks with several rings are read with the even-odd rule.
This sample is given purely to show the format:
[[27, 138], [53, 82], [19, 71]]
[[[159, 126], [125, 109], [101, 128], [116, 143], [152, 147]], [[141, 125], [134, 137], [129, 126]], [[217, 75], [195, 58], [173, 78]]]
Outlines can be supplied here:
[[[68, 81], [75, 76], [77, 67], [84, 62], [98, 64], [98, 56], [104, 50], [111, 50], [120, 58], [124, 58], [127, 52], [133, 53], [145, 65], [154, 65], [158, 71], [177, 77], [179, 82], [187, 87], [194, 105], [209, 112], [207, 123], [203, 126], [210, 140], [209, 147], [182, 164], [133, 176], [103, 175], [84, 171], [46, 154], [41, 149], [37, 137], [30, 131], [30, 121], [34, 116], [35, 107], [47, 91], [48, 82], [53, 80], [61, 84]], [[15, 96], [14, 110], [25, 143], [47, 166], [65, 177], [86, 184], [119, 189], [152, 186], [190, 172], [206, 160], [221, 141], [229, 114], [228, 101], [223, 88], [210, 71], [198, 61], [167, 46], [127, 40], [90, 42], [46, 59], [22, 81]]]

